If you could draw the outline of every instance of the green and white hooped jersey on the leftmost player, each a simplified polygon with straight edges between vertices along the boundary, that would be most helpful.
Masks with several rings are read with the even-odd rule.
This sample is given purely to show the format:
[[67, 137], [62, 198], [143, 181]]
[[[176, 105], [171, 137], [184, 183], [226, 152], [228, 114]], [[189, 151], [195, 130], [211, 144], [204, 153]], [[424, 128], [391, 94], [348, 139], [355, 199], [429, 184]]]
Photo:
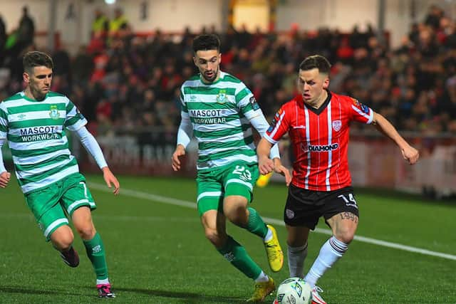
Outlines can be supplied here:
[[79, 172], [65, 128], [74, 131], [86, 124], [76, 106], [58, 93], [36, 101], [19, 92], [0, 103], [0, 139], [8, 140], [24, 194]]

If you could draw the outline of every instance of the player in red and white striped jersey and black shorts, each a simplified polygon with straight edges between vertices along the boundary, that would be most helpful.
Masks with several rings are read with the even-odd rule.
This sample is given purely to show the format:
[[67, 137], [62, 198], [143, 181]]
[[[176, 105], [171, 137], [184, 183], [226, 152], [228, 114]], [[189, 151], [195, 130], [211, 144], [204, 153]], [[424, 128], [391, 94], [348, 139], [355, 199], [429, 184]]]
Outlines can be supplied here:
[[[269, 159], [272, 145], [289, 133], [294, 150], [293, 179], [286, 199], [284, 221], [288, 231], [288, 261], [291, 277], [304, 278], [312, 287], [314, 302], [325, 303], [316, 286], [353, 240], [358, 227], [358, 204], [348, 171], [348, 131], [352, 121], [374, 125], [390, 137], [409, 164], [419, 153], [401, 137], [382, 115], [358, 100], [328, 90], [331, 65], [323, 56], [309, 56], [299, 65], [301, 95], [281, 106], [257, 147], [259, 171], [274, 169]], [[304, 277], [309, 231], [323, 216], [333, 236], [321, 247]]]

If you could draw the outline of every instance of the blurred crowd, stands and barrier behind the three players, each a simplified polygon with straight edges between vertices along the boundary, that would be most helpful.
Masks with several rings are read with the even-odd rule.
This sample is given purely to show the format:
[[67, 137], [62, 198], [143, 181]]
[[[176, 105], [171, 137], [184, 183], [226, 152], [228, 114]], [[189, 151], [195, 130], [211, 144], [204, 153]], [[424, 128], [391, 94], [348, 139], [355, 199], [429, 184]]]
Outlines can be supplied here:
[[[219, 35], [222, 70], [266, 117], [296, 94], [299, 63], [326, 56], [330, 89], [380, 112], [421, 154], [410, 167], [373, 127], [352, 125], [353, 185], [455, 196], [456, 1], [1, 0], [0, 100], [24, 88], [26, 51], [51, 53], [51, 90], [87, 117], [113, 172], [175, 174], [179, 88], [197, 73], [199, 33]], [[98, 172], [73, 144], [82, 171]], [[195, 149], [180, 175], [195, 176]], [[287, 163], [286, 140], [281, 150]], [[6, 147], [4, 157], [11, 168]]]

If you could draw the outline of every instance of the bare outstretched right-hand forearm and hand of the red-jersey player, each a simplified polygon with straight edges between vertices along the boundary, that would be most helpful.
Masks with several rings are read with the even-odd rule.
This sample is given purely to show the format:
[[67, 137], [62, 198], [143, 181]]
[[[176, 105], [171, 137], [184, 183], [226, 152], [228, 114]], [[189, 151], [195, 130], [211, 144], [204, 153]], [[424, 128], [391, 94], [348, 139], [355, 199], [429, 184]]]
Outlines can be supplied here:
[[418, 162], [418, 158], [420, 157], [418, 150], [410, 146], [385, 117], [373, 112], [373, 120], [371, 123], [375, 125], [378, 131], [382, 132], [385, 136], [390, 137], [390, 139], [398, 145], [404, 159], [406, 159], [409, 164]]

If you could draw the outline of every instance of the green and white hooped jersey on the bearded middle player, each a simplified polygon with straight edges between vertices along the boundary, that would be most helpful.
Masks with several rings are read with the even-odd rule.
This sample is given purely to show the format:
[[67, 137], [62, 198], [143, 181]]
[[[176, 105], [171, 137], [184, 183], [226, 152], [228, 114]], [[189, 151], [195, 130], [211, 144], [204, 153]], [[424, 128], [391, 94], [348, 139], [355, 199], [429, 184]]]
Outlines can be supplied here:
[[263, 115], [244, 83], [228, 73], [209, 85], [199, 75], [182, 84], [182, 118], [190, 119], [198, 142], [197, 169], [221, 167], [235, 161], [257, 163], [252, 125]]

